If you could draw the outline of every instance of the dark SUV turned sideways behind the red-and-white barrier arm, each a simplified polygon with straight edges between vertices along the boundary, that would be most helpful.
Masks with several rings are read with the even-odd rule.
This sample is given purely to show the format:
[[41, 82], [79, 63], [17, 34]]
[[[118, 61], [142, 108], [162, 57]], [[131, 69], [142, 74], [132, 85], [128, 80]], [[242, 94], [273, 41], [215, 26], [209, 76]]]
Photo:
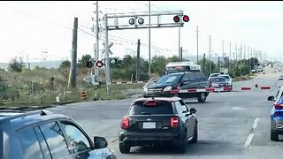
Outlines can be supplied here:
[[[205, 90], [207, 87], [210, 84], [203, 72], [176, 72], [166, 74], [146, 87], [144, 95], [178, 94], [180, 98], [196, 98], [198, 102], [205, 102], [209, 95]], [[195, 92], [187, 92], [187, 89], [195, 89]]]

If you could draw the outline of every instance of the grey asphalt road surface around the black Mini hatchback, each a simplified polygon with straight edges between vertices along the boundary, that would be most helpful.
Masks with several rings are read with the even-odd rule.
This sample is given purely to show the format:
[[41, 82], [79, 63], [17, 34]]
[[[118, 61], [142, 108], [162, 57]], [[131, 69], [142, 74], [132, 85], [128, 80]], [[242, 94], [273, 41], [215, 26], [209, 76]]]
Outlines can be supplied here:
[[[229, 93], [211, 93], [205, 103], [196, 100], [187, 101], [188, 107], [197, 109], [199, 120], [199, 141], [187, 146], [186, 154], [177, 154], [172, 149], [132, 148], [131, 153], [119, 152], [119, 122], [126, 114], [129, 104], [134, 99], [104, 102], [73, 103], [57, 108], [54, 112], [63, 113], [77, 120], [87, 132], [100, 135], [110, 141], [109, 147], [118, 158], [280, 158], [282, 141], [270, 140], [270, 111], [272, 102], [269, 95], [278, 90], [255, 88], [273, 86], [280, 72], [266, 68], [266, 74], [256, 79], [235, 82], [233, 87], [238, 91]], [[249, 86], [252, 90], [241, 91]], [[283, 139], [282, 137], [280, 137]]]

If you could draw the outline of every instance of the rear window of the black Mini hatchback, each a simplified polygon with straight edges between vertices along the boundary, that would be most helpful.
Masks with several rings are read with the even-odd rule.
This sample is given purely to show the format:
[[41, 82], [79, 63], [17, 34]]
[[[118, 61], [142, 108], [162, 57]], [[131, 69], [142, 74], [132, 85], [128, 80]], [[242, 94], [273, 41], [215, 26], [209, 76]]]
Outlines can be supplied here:
[[156, 102], [156, 105], [146, 105], [143, 102], [134, 103], [129, 115], [172, 114], [172, 102]]

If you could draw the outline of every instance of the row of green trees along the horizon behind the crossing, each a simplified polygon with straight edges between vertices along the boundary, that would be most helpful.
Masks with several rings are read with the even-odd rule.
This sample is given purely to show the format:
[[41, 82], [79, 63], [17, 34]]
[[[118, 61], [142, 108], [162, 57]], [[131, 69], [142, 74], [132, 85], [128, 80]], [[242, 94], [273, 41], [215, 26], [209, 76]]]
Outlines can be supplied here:
[[[135, 78], [136, 73], [136, 64], [137, 64], [137, 57], [125, 55], [124, 57], [111, 57], [114, 58], [116, 63], [111, 64], [111, 79], [117, 80], [130, 80]], [[92, 60], [93, 57], [90, 55], [83, 55], [78, 60], [78, 68], [86, 68], [88, 61]], [[155, 56], [152, 57], [151, 60], [151, 72], [155, 75], [162, 75], [165, 65], [170, 62], [180, 62], [179, 57], [172, 56], [172, 57], [164, 57], [164, 56]], [[199, 63], [201, 65], [202, 71], [206, 76], [212, 72], [220, 72], [219, 67], [228, 68], [228, 73], [232, 77], [236, 76], [244, 76], [249, 74], [251, 70], [256, 69], [257, 65], [259, 64], [257, 58], [249, 58], [249, 59], [242, 59], [242, 60], [233, 60], [228, 61], [225, 60], [224, 62], [214, 63], [209, 59], [201, 59]], [[59, 65], [59, 69], [69, 69], [71, 66], [71, 62], [69, 60], [64, 60]], [[144, 58], [140, 57], [140, 66], [141, 66], [141, 80], [148, 80], [149, 79], [149, 62]], [[11, 59], [9, 64], [8, 70], [11, 72], [22, 72], [25, 68], [25, 64], [23, 63], [21, 58], [14, 57]], [[103, 70], [103, 69], [101, 69]]]

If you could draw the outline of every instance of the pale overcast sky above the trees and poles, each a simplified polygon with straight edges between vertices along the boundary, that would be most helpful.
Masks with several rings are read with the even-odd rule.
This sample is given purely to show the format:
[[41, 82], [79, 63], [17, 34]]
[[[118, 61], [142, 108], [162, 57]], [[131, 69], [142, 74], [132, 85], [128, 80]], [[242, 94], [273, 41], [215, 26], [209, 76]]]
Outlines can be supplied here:
[[[96, 1], [1, 1], [0, 2], [0, 63], [12, 57], [24, 62], [71, 59], [73, 20], [78, 18], [78, 55], [94, 57], [96, 42], [91, 27], [96, 25]], [[105, 13], [149, 11], [149, 1], [98, 1], [99, 17]], [[183, 56], [196, 56], [196, 27], [198, 27], [199, 57], [223, 55], [231, 58], [242, 45], [266, 54], [266, 58], [281, 59], [283, 37], [283, 2], [280, 1], [151, 1], [151, 11], [182, 10], [190, 20], [180, 28], [180, 46]], [[109, 19], [109, 22], [111, 23]], [[147, 23], [148, 19], [145, 19]], [[154, 18], [151, 19], [154, 21]], [[166, 21], [167, 20], [167, 21]], [[164, 21], [172, 22], [172, 19]], [[100, 22], [103, 27], [103, 21]], [[152, 28], [151, 57], [178, 56], [179, 28]], [[100, 58], [103, 57], [104, 33], [100, 34]], [[210, 42], [209, 42], [210, 36]], [[141, 57], [149, 58], [149, 29], [109, 31], [113, 55], [135, 55], [140, 39]], [[222, 45], [223, 44], [223, 45]], [[210, 46], [210, 47], [209, 47]], [[264, 57], [264, 56], [263, 56]]]

